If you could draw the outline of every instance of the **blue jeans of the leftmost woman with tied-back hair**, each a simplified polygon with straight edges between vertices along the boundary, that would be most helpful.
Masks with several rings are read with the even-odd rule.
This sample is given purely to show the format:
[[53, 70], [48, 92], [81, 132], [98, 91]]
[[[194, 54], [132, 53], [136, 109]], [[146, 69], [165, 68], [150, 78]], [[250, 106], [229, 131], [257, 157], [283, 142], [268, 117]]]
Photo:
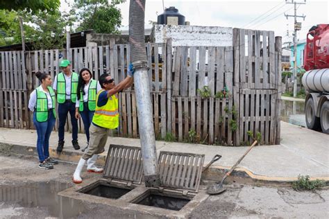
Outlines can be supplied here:
[[43, 162], [49, 157], [49, 137], [53, 126], [55, 125], [55, 117], [52, 112], [48, 113], [48, 120], [45, 122], [37, 122], [35, 119], [35, 112], [33, 112], [33, 123], [37, 130], [37, 155], [39, 161]]

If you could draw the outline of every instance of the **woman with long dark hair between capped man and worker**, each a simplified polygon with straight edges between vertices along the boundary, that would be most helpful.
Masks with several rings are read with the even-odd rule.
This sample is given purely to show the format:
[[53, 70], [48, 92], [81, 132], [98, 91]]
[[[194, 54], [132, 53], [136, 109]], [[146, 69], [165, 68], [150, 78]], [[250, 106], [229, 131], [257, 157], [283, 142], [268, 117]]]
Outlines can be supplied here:
[[[97, 80], [92, 79], [90, 70], [81, 69], [76, 92], [76, 119], [79, 119], [81, 116], [83, 120], [85, 135], [87, 137], [87, 146], [89, 145], [90, 138], [89, 128], [96, 108], [96, 95], [100, 90], [101, 85], [99, 85]], [[85, 151], [86, 148], [82, 151]]]

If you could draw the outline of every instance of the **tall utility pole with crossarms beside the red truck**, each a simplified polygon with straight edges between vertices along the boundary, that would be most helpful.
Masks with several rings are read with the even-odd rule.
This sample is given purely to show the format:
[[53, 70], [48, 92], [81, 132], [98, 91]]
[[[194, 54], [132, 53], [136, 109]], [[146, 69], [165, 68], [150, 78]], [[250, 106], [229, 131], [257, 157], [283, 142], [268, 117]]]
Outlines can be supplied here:
[[285, 15], [285, 17], [294, 17], [294, 72], [293, 72], [293, 82], [294, 82], [294, 97], [297, 96], [297, 30], [301, 30], [301, 22], [297, 22], [297, 17], [303, 17], [303, 20], [305, 21], [306, 16], [300, 16], [297, 15], [297, 5], [305, 4], [306, 0], [304, 2], [296, 2], [294, 0], [288, 1], [285, 0], [285, 3], [293, 3], [294, 4], [294, 15]]

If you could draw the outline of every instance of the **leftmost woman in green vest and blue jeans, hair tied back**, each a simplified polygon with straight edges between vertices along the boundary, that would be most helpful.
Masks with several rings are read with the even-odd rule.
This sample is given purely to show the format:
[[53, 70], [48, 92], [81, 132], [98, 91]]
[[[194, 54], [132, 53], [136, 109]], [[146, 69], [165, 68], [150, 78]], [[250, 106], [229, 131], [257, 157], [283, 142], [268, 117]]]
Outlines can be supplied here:
[[56, 94], [51, 88], [51, 77], [48, 73], [38, 71], [35, 76], [41, 85], [31, 93], [28, 108], [33, 112], [33, 123], [37, 130], [39, 167], [48, 170], [53, 168], [53, 164], [58, 164], [56, 159], [49, 157], [49, 137], [56, 121]]

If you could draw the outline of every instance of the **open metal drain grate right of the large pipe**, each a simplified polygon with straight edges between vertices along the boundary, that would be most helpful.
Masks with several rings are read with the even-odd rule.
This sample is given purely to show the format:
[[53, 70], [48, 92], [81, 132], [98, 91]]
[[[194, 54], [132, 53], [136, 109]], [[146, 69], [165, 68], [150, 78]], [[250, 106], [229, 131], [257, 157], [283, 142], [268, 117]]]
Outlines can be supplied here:
[[161, 151], [159, 174], [161, 186], [198, 191], [205, 155]]

